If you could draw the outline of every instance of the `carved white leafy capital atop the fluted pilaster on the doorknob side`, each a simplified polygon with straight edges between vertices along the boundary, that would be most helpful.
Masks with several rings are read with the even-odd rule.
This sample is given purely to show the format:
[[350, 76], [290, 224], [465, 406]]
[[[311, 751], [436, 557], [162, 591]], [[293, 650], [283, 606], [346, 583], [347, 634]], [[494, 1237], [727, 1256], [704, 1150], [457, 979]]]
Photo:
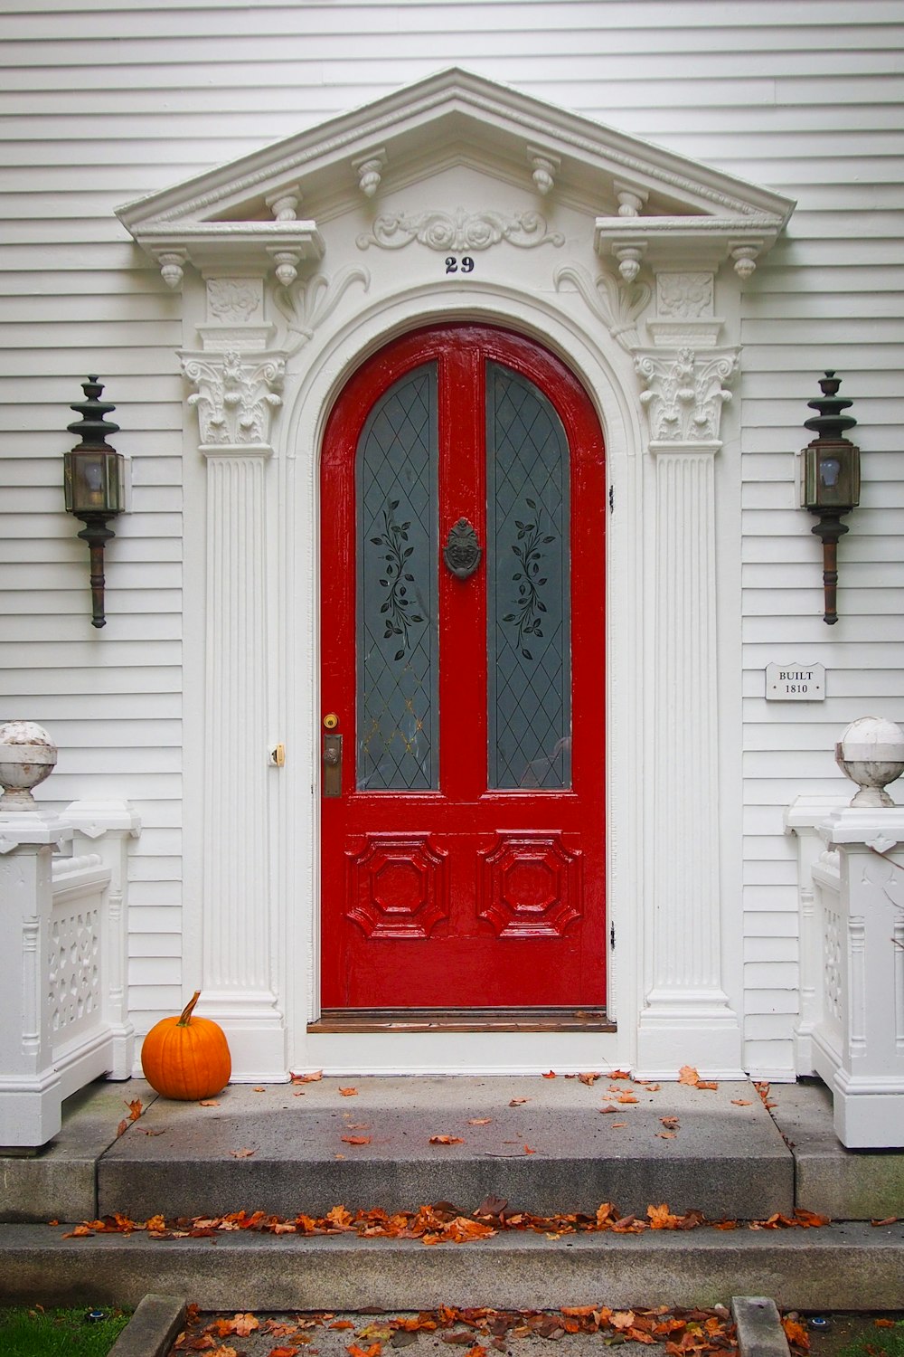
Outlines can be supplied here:
[[183, 354], [182, 370], [197, 387], [188, 404], [198, 411], [202, 448], [270, 448], [270, 421], [282, 404], [282, 356]]

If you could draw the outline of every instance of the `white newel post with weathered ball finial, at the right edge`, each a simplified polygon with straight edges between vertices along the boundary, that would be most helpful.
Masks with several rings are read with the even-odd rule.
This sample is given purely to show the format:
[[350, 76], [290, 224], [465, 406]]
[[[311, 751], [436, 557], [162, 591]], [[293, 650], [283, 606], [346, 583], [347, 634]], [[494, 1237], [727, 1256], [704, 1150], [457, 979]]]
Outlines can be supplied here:
[[904, 734], [865, 716], [836, 757], [862, 790], [819, 826], [838, 849], [838, 938], [824, 953], [835, 1025], [816, 1026], [813, 1064], [832, 1090], [835, 1133], [851, 1149], [904, 1148], [904, 806], [885, 792], [904, 771]]

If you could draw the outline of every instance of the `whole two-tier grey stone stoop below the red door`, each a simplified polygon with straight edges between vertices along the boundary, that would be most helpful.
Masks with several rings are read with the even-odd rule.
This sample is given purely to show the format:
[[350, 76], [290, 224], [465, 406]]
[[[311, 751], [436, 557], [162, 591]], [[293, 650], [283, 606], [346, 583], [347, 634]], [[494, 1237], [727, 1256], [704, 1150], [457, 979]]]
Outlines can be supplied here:
[[[419, 1310], [713, 1305], [758, 1293], [805, 1310], [904, 1308], [904, 1224], [870, 1224], [904, 1216], [904, 1155], [844, 1151], [819, 1084], [777, 1086], [768, 1101], [748, 1083], [370, 1077], [233, 1086], [201, 1106], [156, 1098], [141, 1080], [100, 1083], [70, 1101], [41, 1155], [0, 1159], [0, 1297], [134, 1304], [164, 1291], [205, 1310]], [[489, 1194], [543, 1216], [609, 1201], [645, 1217], [667, 1202], [741, 1225], [500, 1231], [424, 1247], [252, 1231], [66, 1239], [70, 1227], [46, 1224], [240, 1209], [291, 1220], [339, 1204], [436, 1201], [470, 1215]], [[743, 1224], [796, 1209], [834, 1223]]]

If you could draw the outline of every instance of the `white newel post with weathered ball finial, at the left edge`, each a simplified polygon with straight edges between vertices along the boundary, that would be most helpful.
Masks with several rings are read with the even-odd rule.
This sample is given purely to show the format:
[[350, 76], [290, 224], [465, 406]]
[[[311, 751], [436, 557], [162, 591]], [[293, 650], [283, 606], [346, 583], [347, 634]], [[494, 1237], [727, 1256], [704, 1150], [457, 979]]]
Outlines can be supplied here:
[[[60, 1076], [47, 1022], [52, 859], [72, 830], [31, 797], [53, 771], [56, 746], [41, 726], [0, 727], [0, 1147], [46, 1144], [61, 1126]], [[27, 760], [27, 761], [26, 761]]]

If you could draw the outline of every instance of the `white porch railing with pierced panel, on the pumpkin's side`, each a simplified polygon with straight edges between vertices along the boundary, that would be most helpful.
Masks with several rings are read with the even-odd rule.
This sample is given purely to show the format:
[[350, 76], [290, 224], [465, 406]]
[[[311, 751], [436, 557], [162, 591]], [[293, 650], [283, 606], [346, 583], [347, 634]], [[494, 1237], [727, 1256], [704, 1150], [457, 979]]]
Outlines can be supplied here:
[[125, 892], [138, 828], [125, 802], [0, 817], [0, 1147], [46, 1144], [64, 1098], [131, 1073]]

